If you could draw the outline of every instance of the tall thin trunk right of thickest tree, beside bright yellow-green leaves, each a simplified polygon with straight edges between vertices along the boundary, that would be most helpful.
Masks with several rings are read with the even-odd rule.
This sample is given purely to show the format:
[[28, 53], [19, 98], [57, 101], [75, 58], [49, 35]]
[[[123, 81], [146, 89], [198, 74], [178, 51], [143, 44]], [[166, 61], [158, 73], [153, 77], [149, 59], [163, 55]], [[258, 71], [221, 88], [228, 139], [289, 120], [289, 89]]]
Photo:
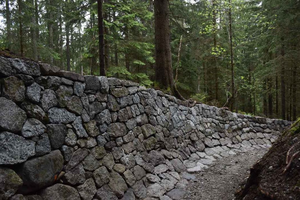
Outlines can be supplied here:
[[235, 105], [235, 86], [234, 86], [234, 71], [233, 71], [233, 51], [232, 51], [232, 25], [231, 25], [231, 0], [229, 1], [229, 40], [230, 40], [230, 64], [231, 64], [231, 110]]

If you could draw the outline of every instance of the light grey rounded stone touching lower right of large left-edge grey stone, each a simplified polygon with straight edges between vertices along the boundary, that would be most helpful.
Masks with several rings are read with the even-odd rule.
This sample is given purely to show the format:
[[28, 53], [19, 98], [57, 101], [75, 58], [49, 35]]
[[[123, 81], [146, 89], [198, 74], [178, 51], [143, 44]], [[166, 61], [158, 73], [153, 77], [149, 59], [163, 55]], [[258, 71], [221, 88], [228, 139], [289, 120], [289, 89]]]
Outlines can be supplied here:
[[22, 128], [22, 136], [26, 138], [40, 136], [45, 133], [46, 126], [35, 118], [28, 118]]

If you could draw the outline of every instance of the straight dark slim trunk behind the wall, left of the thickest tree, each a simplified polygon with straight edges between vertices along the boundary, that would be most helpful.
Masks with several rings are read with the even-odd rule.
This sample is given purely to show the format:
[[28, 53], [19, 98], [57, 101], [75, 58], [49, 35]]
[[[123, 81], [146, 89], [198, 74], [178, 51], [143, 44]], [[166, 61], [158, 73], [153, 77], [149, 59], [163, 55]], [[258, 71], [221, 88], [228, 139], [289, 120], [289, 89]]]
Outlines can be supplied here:
[[100, 70], [100, 76], [105, 76], [102, 0], [97, 0], [97, 9], [98, 9], [98, 34], [99, 34], [99, 67], [100, 67], [99, 70]]

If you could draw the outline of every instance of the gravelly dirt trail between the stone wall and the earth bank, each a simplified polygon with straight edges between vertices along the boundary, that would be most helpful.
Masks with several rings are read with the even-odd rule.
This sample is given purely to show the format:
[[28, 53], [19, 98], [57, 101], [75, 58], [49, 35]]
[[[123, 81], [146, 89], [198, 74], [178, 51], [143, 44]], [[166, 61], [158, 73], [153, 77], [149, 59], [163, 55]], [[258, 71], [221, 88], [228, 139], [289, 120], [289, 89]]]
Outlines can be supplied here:
[[217, 159], [202, 172], [193, 174], [185, 187], [184, 199], [231, 200], [240, 183], [250, 173], [250, 167], [268, 149], [255, 149], [229, 157]]

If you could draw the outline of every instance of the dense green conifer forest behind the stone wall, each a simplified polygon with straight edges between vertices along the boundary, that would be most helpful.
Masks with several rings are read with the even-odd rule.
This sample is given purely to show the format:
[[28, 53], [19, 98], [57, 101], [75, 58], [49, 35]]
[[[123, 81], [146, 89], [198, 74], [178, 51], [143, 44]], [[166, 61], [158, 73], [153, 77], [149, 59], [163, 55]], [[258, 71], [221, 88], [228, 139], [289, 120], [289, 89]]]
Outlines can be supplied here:
[[[62, 70], [99, 75], [99, 3], [0, 0], [0, 48]], [[155, 46], [167, 36], [171, 73], [184, 98], [250, 115], [297, 118], [299, 0], [104, 0], [101, 4], [106, 76], [161, 88], [162, 78], [155, 76], [160, 51]], [[164, 31], [170, 36], [158, 32], [164, 17], [170, 28]], [[160, 37], [164, 39], [159, 41]]]

